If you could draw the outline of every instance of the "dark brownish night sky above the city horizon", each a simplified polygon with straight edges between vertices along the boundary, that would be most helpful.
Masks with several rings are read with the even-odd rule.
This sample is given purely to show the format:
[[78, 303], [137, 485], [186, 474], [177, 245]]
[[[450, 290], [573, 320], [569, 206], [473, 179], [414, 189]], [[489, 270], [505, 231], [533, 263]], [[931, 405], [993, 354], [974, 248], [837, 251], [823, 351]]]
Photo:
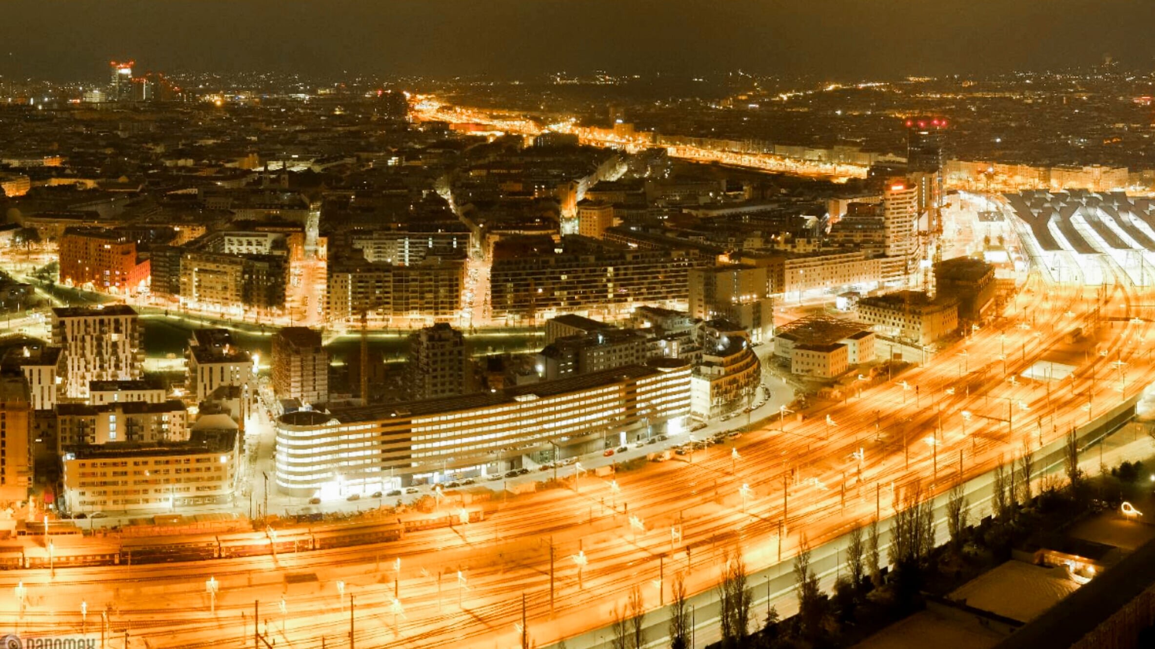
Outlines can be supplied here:
[[1149, 0], [6, 0], [0, 74], [1155, 69]]

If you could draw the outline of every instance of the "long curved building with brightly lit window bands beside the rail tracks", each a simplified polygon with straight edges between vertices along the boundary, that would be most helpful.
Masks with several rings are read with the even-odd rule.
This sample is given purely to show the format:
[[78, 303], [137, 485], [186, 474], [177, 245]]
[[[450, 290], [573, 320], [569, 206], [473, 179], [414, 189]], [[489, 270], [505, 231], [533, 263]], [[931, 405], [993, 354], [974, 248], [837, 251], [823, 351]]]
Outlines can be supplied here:
[[335, 497], [476, 476], [677, 434], [688, 412], [690, 366], [665, 359], [463, 397], [301, 410], [277, 419], [276, 483], [289, 495]]

